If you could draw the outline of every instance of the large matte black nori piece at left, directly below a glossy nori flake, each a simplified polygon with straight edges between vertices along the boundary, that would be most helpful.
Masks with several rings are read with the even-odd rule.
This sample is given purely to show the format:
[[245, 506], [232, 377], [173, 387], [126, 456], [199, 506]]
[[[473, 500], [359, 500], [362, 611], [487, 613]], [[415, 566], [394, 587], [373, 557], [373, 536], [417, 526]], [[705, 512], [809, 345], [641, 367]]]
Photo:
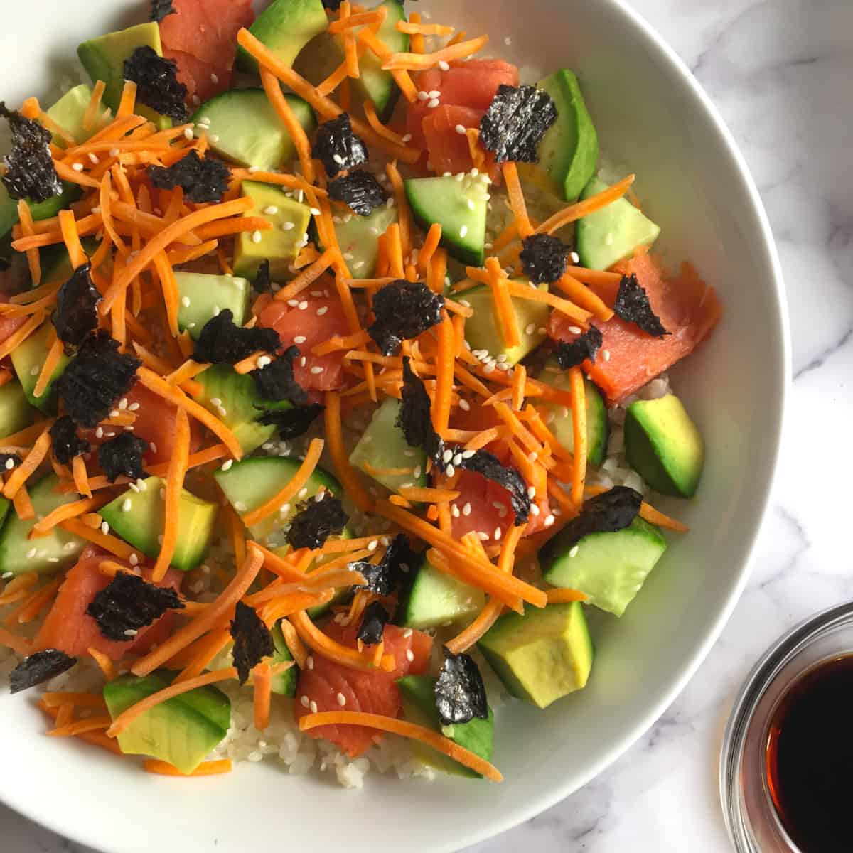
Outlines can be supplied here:
[[55, 381], [67, 415], [80, 426], [95, 427], [107, 417], [113, 403], [130, 391], [142, 362], [118, 350], [119, 342], [107, 332], [90, 334]]

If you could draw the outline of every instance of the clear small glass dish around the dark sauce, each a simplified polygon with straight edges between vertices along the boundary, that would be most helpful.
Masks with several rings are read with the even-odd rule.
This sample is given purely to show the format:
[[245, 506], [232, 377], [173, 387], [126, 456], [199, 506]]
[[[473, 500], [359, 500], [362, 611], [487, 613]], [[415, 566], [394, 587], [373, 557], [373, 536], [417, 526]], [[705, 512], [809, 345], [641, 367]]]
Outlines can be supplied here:
[[827, 661], [853, 654], [853, 601], [815, 613], [782, 635], [752, 669], [722, 740], [720, 798], [737, 853], [800, 853], [770, 797], [770, 722], [792, 684]]

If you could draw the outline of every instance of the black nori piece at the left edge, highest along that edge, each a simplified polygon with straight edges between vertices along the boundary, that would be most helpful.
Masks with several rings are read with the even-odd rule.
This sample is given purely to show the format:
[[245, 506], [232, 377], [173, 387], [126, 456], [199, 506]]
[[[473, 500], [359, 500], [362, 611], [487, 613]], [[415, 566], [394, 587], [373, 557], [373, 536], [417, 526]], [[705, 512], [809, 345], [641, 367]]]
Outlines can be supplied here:
[[47, 201], [59, 195], [62, 184], [50, 154], [50, 131], [17, 110], [7, 109], [2, 101], [0, 117], [9, 119], [12, 131], [12, 150], [6, 155], [3, 175], [9, 198]]

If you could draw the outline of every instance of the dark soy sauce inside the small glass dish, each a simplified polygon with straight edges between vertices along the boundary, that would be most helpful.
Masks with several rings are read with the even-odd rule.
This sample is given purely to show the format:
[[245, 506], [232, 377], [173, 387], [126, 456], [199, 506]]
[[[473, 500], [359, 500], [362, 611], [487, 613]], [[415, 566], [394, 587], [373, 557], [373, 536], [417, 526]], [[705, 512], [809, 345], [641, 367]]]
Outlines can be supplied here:
[[802, 853], [853, 850], [853, 655], [817, 664], [781, 699], [767, 740], [770, 796]]

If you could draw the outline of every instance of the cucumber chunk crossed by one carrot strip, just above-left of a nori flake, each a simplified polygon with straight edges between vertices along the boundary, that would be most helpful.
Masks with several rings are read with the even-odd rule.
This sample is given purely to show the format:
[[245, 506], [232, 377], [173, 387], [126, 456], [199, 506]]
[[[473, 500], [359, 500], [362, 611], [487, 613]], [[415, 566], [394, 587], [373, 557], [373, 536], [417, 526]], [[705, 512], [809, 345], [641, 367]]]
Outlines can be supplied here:
[[[293, 479], [301, 464], [302, 460], [293, 456], [254, 456], [252, 459], [235, 462], [228, 471], [220, 468], [213, 474], [213, 478], [231, 506], [244, 515], [275, 497]], [[305, 487], [299, 490], [292, 502], [286, 503], [278, 513], [273, 513], [249, 528], [252, 536], [256, 539], [269, 537], [270, 533], [287, 524], [287, 520], [296, 512], [299, 502], [315, 496], [321, 489], [337, 497], [344, 495], [339, 482], [330, 473], [322, 468], [315, 468]]]

